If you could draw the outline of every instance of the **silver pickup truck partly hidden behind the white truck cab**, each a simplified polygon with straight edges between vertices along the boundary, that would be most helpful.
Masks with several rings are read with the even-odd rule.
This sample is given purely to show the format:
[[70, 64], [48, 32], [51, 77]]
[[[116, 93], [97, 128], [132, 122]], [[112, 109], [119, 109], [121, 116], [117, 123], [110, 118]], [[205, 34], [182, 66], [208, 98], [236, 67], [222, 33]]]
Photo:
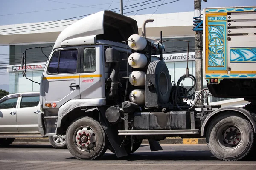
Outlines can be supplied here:
[[[17, 137], [42, 137], [38, 129], [39, 92], [9, 94], [0, 99], [0, 145], [8, 146]], [[46, 136], [44, 136], [46, 137]], [[55, 148], [66, 148], [65, 136], [49, 136]]]

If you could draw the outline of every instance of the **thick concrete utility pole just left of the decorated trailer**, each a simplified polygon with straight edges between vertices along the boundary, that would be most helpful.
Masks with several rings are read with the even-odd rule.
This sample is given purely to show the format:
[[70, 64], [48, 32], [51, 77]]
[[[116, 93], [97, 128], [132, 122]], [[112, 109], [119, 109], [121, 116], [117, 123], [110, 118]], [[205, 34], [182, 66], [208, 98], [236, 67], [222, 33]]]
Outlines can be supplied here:
[[[201, 0], [194, 0], [194, 9], [195, 17], [201, 16]], [[197, 91], [201, 91], [203, 89], [203, 63], [202, 63], [202, 34], [195, 34], [195, 79]], [[203, 104], [200, 103], [201, 105]], [[199, 105], [200, 105], [199, 104]]]

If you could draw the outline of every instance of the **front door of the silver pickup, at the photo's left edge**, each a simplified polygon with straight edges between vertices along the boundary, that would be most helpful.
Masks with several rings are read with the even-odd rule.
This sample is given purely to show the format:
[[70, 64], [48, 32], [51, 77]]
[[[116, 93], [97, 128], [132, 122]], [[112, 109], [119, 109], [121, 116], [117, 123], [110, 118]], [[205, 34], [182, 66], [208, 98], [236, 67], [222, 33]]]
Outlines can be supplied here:
[[0, 132], [17, 132], [18, 95], [10, 96], [0, 101]]

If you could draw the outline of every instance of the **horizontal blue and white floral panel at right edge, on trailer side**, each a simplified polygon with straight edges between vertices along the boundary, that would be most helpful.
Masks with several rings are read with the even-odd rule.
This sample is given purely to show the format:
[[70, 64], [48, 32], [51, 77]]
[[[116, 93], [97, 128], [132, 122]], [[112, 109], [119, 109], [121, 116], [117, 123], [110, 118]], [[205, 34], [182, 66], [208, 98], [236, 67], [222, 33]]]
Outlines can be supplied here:
[[230, 62], [256, 62], [256, 48], [230, 48]]

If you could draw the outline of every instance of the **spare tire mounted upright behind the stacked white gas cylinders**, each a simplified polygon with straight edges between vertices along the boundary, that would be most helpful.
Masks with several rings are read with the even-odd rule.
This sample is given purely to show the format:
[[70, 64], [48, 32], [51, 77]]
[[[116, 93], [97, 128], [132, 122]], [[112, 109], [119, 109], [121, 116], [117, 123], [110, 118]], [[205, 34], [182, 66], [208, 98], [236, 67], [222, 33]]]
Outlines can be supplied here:
[[162, 60], [150, 62], [147, 74], [155, 74], [158, 103], [168, 103], [171, 94], [171, 77], [165, 62]]

